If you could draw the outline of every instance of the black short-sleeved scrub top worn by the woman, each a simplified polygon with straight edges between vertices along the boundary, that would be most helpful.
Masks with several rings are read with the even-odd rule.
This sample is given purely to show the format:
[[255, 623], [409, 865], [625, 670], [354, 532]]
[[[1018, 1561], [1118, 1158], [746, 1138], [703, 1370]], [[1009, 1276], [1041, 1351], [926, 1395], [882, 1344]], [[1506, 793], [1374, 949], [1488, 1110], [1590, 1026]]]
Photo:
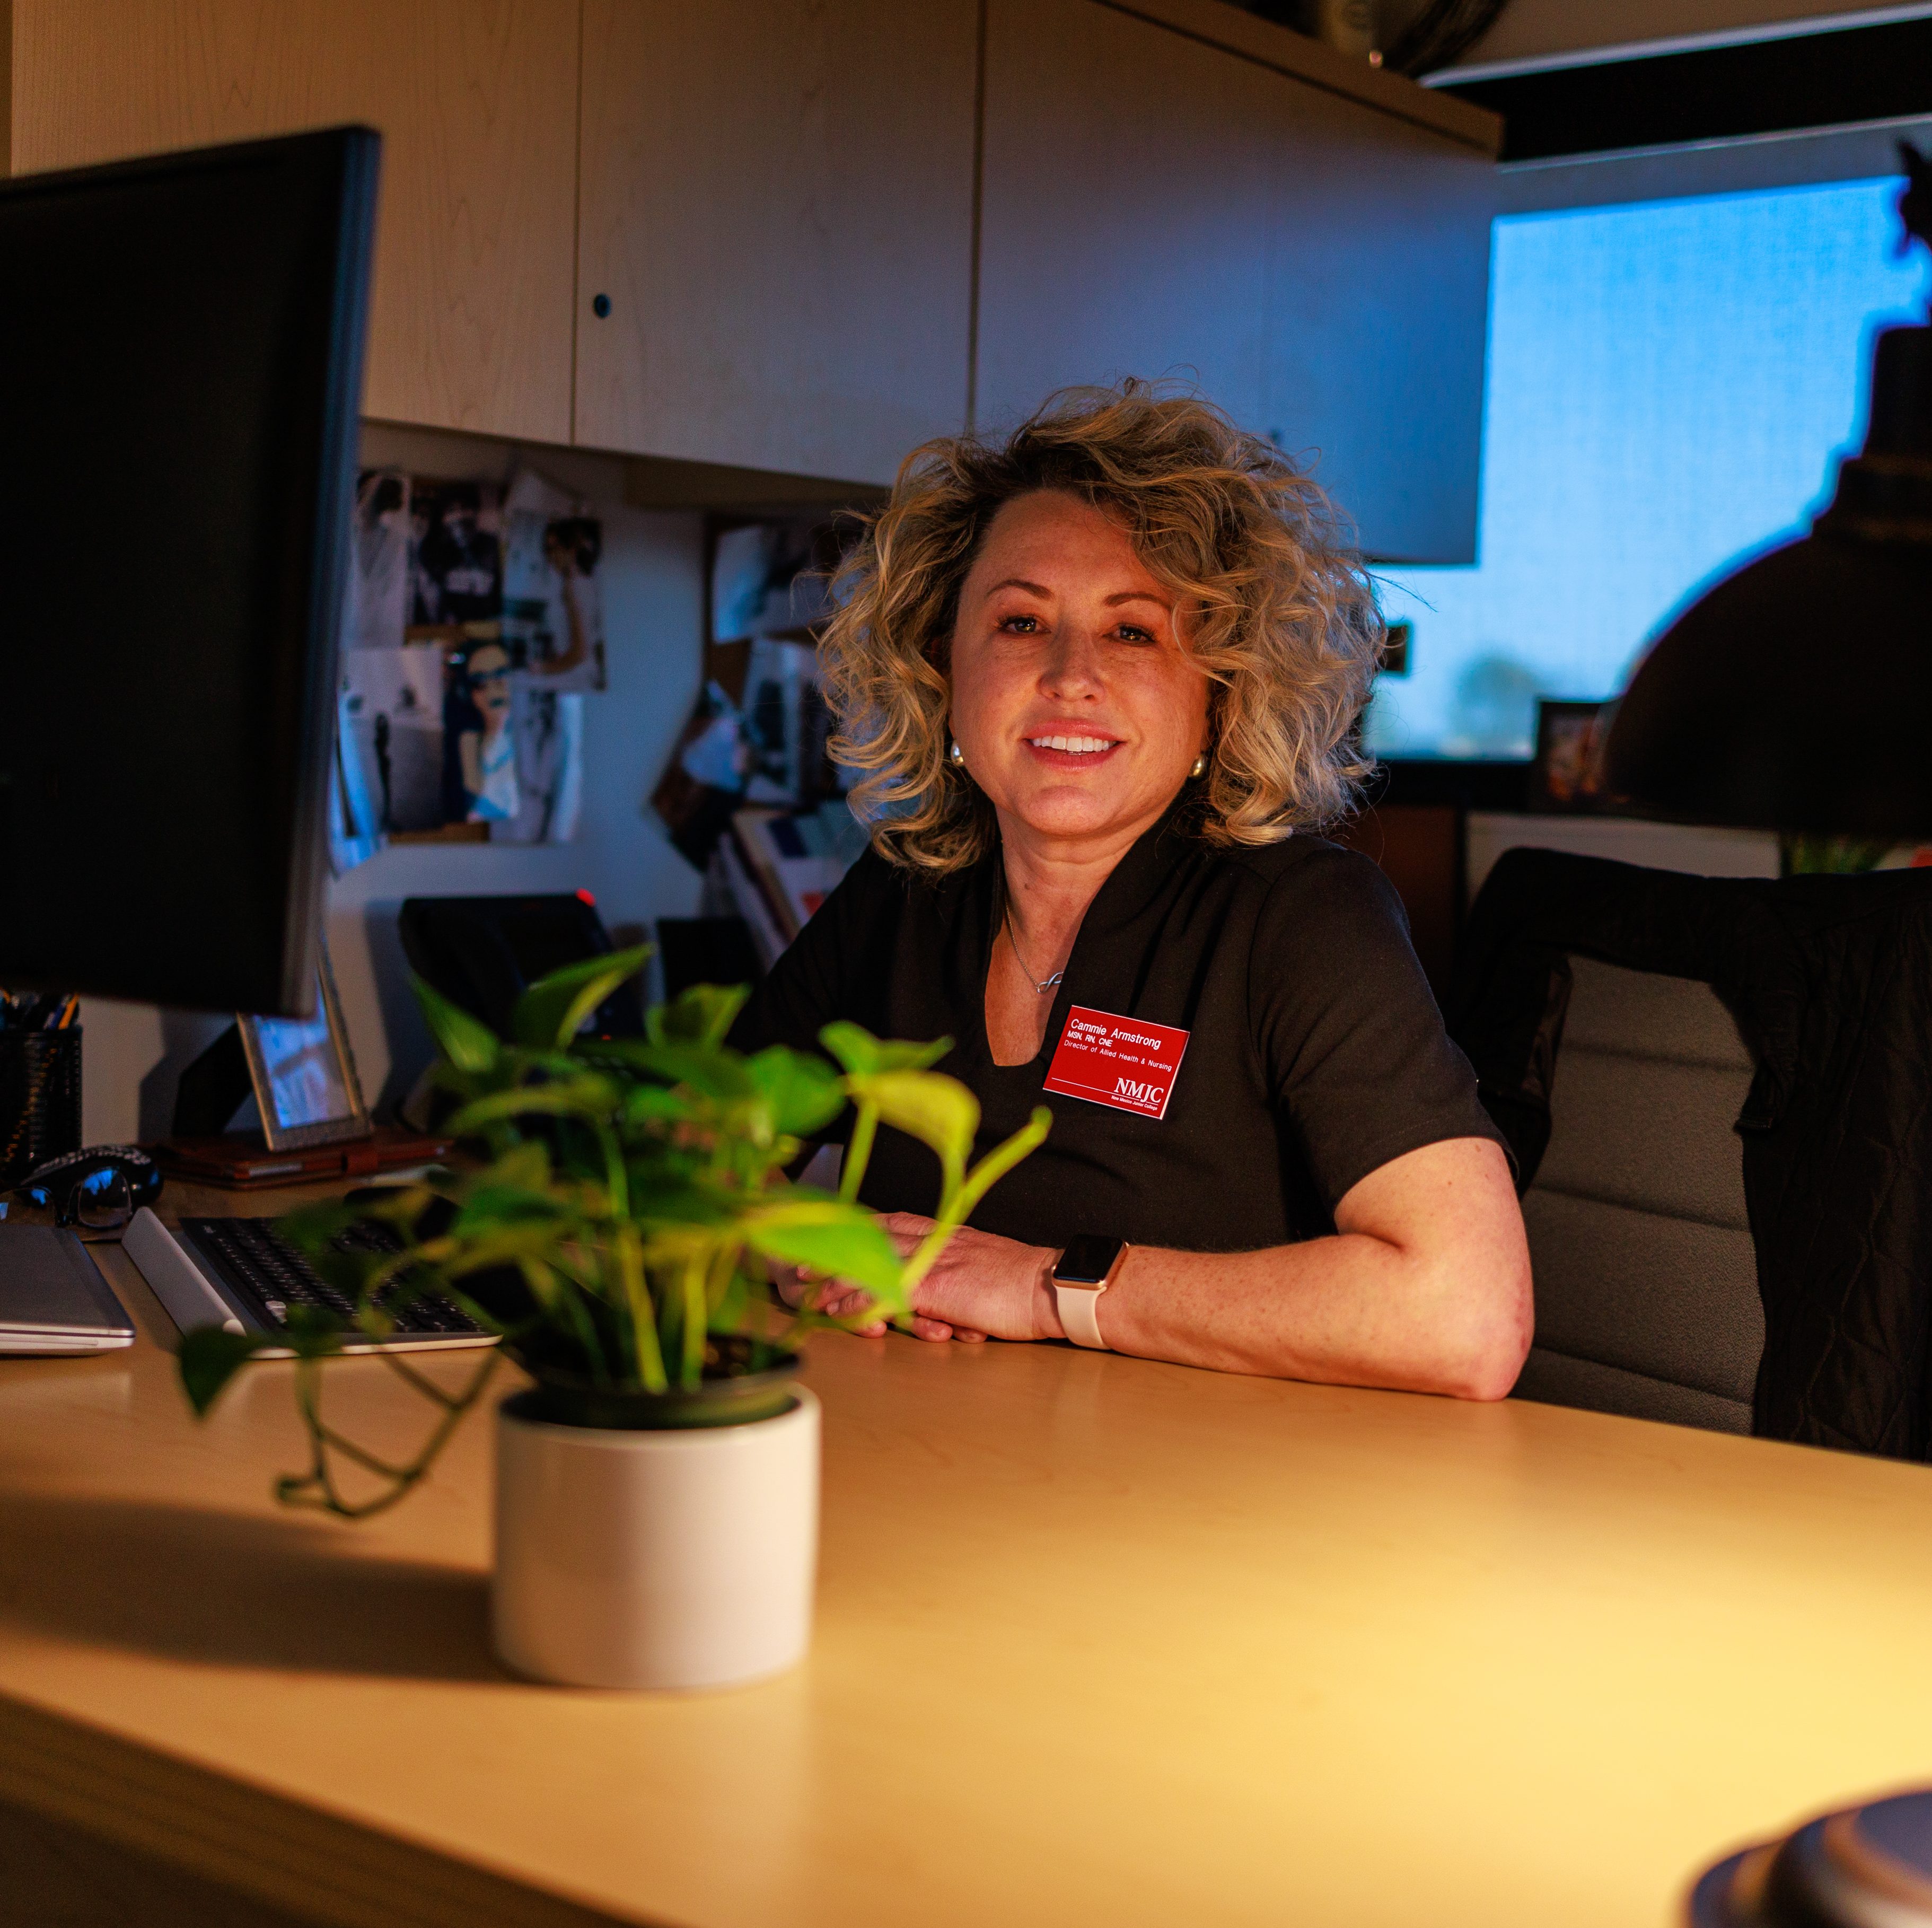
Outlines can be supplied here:
[[[1039, 1055], [1005, 1066], [985, 1037], [1003, 889], [997, 850], [939, 881], [867, 852], [730, 1037], [744, 1051], [817, 1051], [833, 1018], [879, 1037], [951, 1037], [937, 1068], [980, 1099], [976, 1157], [1045, 1103], [1053, 1130], [981, 1200], [981, 1231], [1254, 1252], [1331, 1233], [1341, 1196], [1405, 1151], [1503, 1142], [1368, 858], [1320, 836], [1225, 850], [1169, 813], [1088, 906]], [[1165, 1117], [1041, 1090], [1074, 1005], [1188, 1034]], [[939, 1161], [881, 1128], [860, 1196], [931, 1215]]]

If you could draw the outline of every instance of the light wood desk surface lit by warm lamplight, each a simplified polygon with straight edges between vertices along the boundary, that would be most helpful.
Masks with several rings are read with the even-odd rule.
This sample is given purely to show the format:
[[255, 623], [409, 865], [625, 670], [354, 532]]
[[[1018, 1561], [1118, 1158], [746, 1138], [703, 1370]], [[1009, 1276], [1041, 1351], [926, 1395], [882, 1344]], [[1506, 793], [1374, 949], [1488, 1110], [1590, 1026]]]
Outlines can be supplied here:
[[106, 1267], [141, 1345], [0, 1366], [0, 1797], [330, 1920], [1656, 1924], [1932, 1779], [1932, 1468], [829, 1337], [808, 1663], [556, 1690], [489, 1656], [487, 1424], [290, 1517], [288, 1368], [197, 1426]]

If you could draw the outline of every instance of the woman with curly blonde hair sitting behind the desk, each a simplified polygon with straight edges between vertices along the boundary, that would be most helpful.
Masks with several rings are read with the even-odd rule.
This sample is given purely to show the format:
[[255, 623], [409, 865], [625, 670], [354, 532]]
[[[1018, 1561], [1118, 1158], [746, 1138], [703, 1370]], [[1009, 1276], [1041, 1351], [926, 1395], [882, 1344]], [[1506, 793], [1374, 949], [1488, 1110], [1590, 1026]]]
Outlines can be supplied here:
[[[947, 1035], [981, 1149], [1053, 1111], [914, 1329], [1501, 1399], [1530, 1273], [1499, 1134], [1393, 891], [1308, 835], [1381, 643], [1320, 489], [1202, 402], [1078, 392], [916, 452], [840, 589], [873, 848], [734, 1041]], [[931, 1153], [881, 1132], [864, 1198], [910, 1250]]]

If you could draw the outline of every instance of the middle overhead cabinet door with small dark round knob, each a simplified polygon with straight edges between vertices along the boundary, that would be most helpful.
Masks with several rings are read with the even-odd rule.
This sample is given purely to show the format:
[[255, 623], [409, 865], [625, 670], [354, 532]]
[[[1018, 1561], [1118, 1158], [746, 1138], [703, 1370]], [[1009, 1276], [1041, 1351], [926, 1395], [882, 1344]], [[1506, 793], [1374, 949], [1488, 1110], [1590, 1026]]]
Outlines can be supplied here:
[[962, 427], [974, 41], [976, 0], [585, 0], [580, 442], [877, 483]]

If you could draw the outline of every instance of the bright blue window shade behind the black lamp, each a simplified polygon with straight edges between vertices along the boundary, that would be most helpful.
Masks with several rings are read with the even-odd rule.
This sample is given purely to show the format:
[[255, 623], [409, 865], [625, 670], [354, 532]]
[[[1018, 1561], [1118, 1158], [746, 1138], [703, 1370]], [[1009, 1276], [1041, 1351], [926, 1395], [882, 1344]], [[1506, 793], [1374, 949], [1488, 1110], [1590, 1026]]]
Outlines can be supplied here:
[[1538, 695], [1613, 695], [1689, 595], [1806, 524], [1862, 435], [1872, 328], [1924, 319], [1897, 189], [1497, 220], [1480, 560], [1378, 572], [1414, 645], [1376, 751], [1526, 755]]

